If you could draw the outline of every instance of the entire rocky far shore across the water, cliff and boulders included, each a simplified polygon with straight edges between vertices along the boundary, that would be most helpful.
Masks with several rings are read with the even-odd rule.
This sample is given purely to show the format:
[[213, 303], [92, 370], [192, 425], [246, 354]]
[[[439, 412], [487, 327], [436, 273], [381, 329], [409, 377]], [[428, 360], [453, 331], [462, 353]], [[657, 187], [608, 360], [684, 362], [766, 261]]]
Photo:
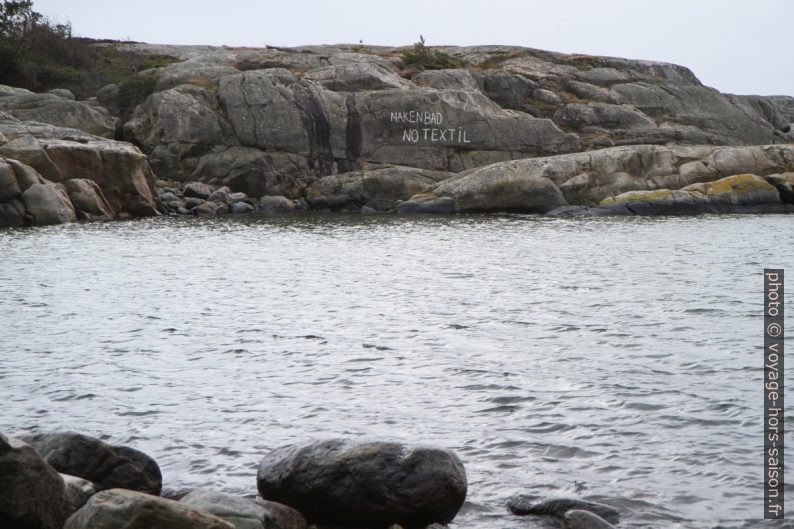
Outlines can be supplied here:
[[78, 101], [0, 86], [0, 226], [294, 211], [790, 213], [794, 97], [507, 46], [129, 44]]

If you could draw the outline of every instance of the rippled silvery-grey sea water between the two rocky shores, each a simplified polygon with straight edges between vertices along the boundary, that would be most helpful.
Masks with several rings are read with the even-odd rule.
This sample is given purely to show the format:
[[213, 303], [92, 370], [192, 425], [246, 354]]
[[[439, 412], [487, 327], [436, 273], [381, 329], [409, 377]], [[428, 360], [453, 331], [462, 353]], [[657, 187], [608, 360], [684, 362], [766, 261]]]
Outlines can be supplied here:
[[[622, 527], [766, 527], [762, 269], [786, 216], [314, 215], [0, 230], [0, 430], [255, 494], [314, 438], [454, 449], [460, 528], [515, 492]], [[794, 501], [794, 493], [789, 488]], [[785, 527], [776, 524], [774, 527]]]

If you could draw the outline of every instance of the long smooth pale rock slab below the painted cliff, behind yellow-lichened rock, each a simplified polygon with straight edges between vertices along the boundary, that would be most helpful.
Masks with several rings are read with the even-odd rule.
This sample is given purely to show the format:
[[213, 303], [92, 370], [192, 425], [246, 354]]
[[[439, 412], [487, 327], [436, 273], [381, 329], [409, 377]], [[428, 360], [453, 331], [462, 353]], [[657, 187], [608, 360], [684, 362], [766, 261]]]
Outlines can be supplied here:
[[448, 197], [458, 213], [546, 213], [560, 206], [595, 205], [628, 191], [678, 190], [726, 176], [793, 169], [794, 145], [612, 147], [464, 171], [409, 202], [418, 205]]

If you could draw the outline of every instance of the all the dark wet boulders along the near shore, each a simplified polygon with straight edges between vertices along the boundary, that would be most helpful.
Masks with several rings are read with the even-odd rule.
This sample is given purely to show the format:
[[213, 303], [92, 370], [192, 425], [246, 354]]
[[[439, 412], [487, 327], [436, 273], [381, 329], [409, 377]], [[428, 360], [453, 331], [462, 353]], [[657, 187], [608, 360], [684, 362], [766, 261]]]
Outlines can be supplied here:
[[[260, 462], [256, 498], [163, 488], [150, 456], [73, 432], [0, 434], [0, 524], [19, 529], [443, 529], [463, 506], [450, 450], [332, 439], [282, 446]], [[608, 529], [608, 505], [517, 495], [517, 516]]]

